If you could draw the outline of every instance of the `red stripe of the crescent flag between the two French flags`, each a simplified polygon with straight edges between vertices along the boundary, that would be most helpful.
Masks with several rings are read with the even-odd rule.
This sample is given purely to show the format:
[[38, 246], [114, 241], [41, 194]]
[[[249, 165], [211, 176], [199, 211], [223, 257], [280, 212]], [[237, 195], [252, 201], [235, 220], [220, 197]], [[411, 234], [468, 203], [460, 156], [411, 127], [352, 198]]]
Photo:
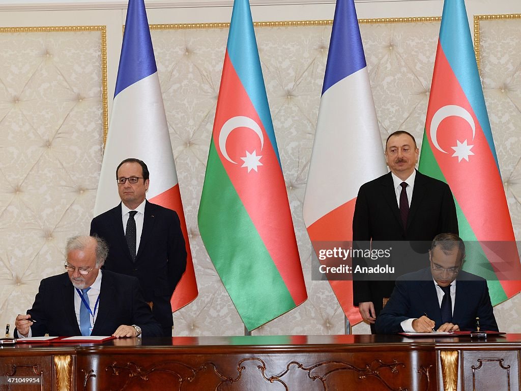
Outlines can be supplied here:
[[[225, 55], [217, 106], [213, 138], [219, 158], [291, 297], [298, 305], [307, 298], [307, 294], [305, 285], [302, 284], [302, 266], [288, 206], [286, 184], [264, 125], [233, 68], [228, 52]], [[254, 130], [239, 127], [229, 133], [225, 148], [221, 151], [221, 128], [230, 118], [238, 116], [249, 117], [257, 123], [261, 128], [264, 144], [262, 145], [261, 138]], [[250, 169], [249, 172], [249, 168], [243, 166], [245, 162], [242, 158], [254, 152], [257, 157], [262, 156], [258, 159], [262, 165], [257, 165], [256, 170]], [[227, 153], [235, 163], [227, 160], [223, 153]]]

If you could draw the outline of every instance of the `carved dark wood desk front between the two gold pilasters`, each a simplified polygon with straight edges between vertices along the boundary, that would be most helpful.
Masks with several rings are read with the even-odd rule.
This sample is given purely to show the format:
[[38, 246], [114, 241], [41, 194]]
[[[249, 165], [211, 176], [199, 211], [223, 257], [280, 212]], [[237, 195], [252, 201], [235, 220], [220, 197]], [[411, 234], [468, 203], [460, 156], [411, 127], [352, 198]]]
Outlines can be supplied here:
[[433, 352], [78, 356], [77, 389], [428, 391], [435, 360]]

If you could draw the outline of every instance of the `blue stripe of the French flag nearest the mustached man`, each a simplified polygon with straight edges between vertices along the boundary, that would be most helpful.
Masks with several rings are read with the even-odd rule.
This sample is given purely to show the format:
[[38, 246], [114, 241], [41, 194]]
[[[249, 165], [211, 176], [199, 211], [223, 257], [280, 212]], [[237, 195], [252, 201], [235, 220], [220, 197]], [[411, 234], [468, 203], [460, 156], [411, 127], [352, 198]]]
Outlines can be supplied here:
[[337, 0], [322, 95], [343, 78], [366, 66], [353, 0]]

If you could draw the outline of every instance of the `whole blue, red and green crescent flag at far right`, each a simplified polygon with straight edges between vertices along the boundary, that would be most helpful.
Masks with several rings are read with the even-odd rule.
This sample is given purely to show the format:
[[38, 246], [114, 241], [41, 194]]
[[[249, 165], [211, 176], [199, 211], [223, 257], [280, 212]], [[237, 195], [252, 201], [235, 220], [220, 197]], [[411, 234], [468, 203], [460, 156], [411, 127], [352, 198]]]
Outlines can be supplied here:
[[519, 255], [464, 0], [443, 5], [419, 170], [449, 184], [467, 241], [464, 269], [488, 280], [492, 304], [519, 292]]

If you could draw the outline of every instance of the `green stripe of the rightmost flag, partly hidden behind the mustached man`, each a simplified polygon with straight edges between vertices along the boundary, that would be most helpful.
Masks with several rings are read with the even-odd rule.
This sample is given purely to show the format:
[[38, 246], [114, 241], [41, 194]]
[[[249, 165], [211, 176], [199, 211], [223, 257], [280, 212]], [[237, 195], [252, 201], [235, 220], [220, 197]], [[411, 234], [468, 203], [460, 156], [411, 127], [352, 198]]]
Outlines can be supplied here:
[[[447, 182], [445, 176], [441, 172], [440, 166], [432, 153], [430, 148], [429, 140], [427, 138], [427, 132], [424, 130], [424, 137], [421, 144], [421, 156], [418, 164], [418, 170], [421, 173], [428, 175], [432, 178], [439, 179], [443, 182]], [[454, 199], [456, 204], [456, 213], [458, 228], [460, 230], [460, 238], [465, 240], [466, 256], [465, 263], [463, 264], [463, 270], [469, 273], [473, 273], [477, 276], [483, 277], [487, 280], [489, 287], [490, 300], [492, 306], [495, 306], [507, 299], [505, 291], [501, 286], [501, 282], [495, 275], [495, 272], [490, 264], [485, 252], [483, 251], [480, 243], [474, 231], [470, 227], [465, 214], [463, 213], [460, 204]]]

